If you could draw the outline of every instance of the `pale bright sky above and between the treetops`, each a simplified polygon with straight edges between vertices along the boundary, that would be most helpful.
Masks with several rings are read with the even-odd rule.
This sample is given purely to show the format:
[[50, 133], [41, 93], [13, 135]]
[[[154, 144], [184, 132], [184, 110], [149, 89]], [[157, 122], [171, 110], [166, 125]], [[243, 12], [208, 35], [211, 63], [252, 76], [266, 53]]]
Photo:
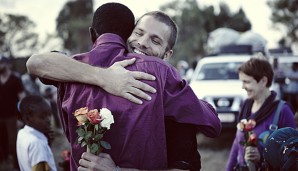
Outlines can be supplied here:
[[[27, 15], [37, 24], [37, 31], [43, 36], [54, 32], [56, 18], [65, 2], [67, 0], [0, 0], [0, 13]], [[158, 10], [160, 5], [171, 0], [94, 0], [94, 7], [106, 2], [123, 3], [134, 12], [136, 17], [139, 17], [148, 11]], [[233, 12], [242, 7], [252, 23], [252, 30], [267, 39], [269, 48], [276, 47], [276, 42], [282, 37], [280, 31], [272, 29], [271, 9], [266, 5], [266, 0], [198, 0], [198, 2], [200, 6], [214, 5], [216, 8], [220, 2], [225, 2]]]

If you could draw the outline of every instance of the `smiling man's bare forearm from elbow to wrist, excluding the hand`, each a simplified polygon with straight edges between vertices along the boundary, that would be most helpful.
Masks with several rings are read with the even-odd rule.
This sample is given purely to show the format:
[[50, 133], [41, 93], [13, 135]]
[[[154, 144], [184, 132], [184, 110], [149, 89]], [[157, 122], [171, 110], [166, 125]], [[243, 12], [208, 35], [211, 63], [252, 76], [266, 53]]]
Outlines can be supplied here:
[[[64, 54], [44, 53], [31, 56], [27, 63], [30, 74], [59, 82], [100, 84], [94, 76], [101, 68], [78, 62]], [[102, 69], [104, 70], [104, 69]]]

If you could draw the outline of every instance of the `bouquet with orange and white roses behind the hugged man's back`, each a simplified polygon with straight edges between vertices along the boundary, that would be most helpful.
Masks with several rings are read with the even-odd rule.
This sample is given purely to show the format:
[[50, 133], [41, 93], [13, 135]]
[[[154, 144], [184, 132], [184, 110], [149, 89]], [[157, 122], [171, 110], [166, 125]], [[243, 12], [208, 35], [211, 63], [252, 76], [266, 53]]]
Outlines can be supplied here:
[[98, 155], [102, 148], [111, 149], [110, 144], [102, 140], [105, 132], [114, 123], [114, 117], [110, 110], [102, 108], [98, 112], [97, 109], [88, 110], [88, 107], [83, 107], [77, 109], [73, 114], [78, 120], [77, 143], [81, 147], [87, 146], [87, 152], [95, 155]]

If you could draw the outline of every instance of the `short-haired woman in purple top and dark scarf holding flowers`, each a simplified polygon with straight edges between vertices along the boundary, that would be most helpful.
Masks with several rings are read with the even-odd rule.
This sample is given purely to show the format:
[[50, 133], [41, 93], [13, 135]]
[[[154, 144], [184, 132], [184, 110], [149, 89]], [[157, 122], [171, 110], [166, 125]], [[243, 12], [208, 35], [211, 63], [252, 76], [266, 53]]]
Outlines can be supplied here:
[[[269, 130], [280, 102], [276, 93], [269, 90], [273, 69], [266, 59], [252, 57], [238, 68], [238, 74], [242, 81], [242, 88], [246, 90], [248, 96], [240, 110], [238, 121], [255, 120], [256, 125], [252, 130], [258, 137]], [[281, 106], [279, 115], [278, 128], [296, 128], [294, 113], [289, 104], [285, 103]], [[253, 162], [256, 170], [263, 169], [264, 146], [258, 143], [256, 146], [245, 147], [241, 143], [244, 141], [244, 132], [237, 129], [226, 166], [227, 171], [248, 169], [248, 162]]]

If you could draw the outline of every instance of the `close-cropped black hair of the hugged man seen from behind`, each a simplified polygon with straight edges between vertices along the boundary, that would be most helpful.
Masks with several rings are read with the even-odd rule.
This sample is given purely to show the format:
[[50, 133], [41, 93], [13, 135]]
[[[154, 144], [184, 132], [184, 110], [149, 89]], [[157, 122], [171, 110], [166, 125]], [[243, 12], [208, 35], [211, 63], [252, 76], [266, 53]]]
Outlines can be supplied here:
[[106, 3], [94, 12], [92, 28], [99, 36], [114, 33], [126, 42], [134, 29], [134, 23], [134, 15], [128, 7], [120, 3]]

